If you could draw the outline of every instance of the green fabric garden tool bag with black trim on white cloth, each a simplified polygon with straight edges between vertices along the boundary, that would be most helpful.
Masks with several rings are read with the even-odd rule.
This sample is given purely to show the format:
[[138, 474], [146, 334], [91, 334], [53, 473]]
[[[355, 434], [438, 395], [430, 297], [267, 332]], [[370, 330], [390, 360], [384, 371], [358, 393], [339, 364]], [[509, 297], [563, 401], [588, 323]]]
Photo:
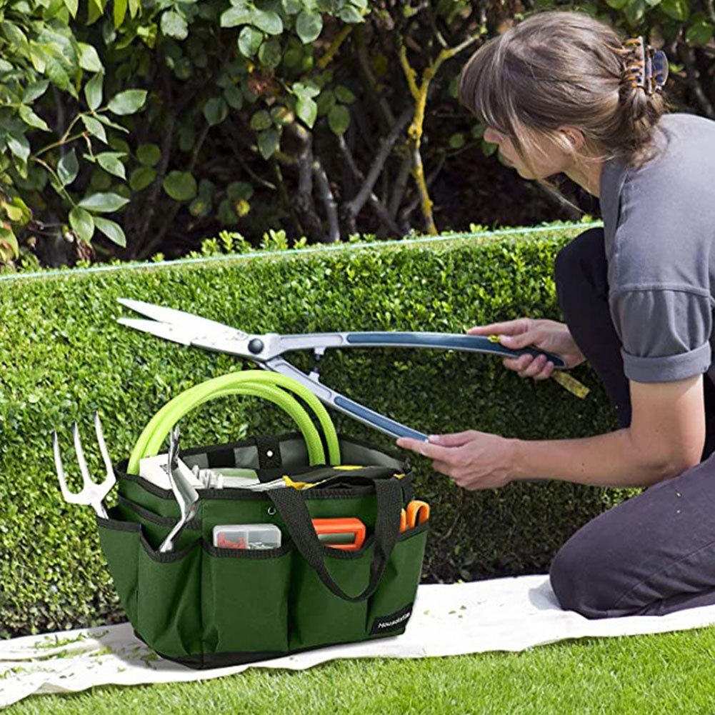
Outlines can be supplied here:
[[[429, 528], [424, 521], [400, 531], [414, 497], [410, 465], [363, 440], [333, 435], [333, 443], [340, 463], [332, 465], [310, 457], [305, 430], [182, 450], [189, 467], [247, 468], [261, 482], [287, 476], [304, 486], [198, 489], [197, 513], [170, 553], [157, 549], [179, 518], [172, 490], [129, 473], [131, 460], [117, 465], [117, 504], [97, 526], [119, 601], [142, 641], [204, 669], [405, 631]], [[356, 551], [326, 546], [311, 521], [345, 517], [366, 527]], [[213, 545], [215, 526], [238, 523], [275, 524], [281, 546]]]

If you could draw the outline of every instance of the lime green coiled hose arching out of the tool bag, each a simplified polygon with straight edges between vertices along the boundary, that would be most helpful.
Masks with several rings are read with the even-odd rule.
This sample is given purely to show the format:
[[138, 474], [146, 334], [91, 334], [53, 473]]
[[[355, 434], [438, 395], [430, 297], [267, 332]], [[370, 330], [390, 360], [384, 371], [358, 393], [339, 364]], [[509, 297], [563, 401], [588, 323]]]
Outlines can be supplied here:
[[134, 445], [132, 455], [129, 458], [127, 473], [138, 474], [139, 460], [158, 454], [174, 425], [192, 409], [208, 400], [235, 394], [262, 397], [285, 410], [300, 427], [305, 439], [310, 464], [325, 464], [325, 452], [322, 448], [320, 434], [312, 423], [310, 415], [292, 395], [280, 388], [291, 390], [305, 400], [312, 409], [325, 433], [330, 464], [339, 465], [340, 445], [337, 440], [335, 425], [333, 425], [325, 407], [310, 390], [298, 383], [297, 380], [287, 378], [285, 375], [265, 373], [263, 370], [242, 370], [194, 385], [193, 388], [184, 390], [177, 397], [169, 400], [149, 420], [144, 431], [139, 435], [139, 439]]

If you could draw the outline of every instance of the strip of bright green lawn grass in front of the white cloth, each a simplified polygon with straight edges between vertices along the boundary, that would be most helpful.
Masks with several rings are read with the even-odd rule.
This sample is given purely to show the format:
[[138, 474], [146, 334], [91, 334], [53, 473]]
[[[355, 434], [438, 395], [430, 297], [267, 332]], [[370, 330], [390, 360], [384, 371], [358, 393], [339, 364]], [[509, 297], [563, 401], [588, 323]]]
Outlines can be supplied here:
[[713, 715], [715, 628], [584, 638], [521, 653], [252, 668], [197, 683], [31, 696], [4, 712]]

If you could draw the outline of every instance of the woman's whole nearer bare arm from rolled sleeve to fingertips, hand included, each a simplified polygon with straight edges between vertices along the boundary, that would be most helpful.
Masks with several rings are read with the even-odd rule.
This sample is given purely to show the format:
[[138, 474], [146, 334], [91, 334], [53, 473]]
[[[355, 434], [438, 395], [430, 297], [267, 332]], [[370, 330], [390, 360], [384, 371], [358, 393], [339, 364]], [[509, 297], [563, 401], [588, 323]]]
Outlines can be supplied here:
[[703, 377], [670, 383], [631, 380], [631, 425], [576, 440], [518, 440], [468, 430], [400, 437], [398, 447], [433, 460], [432, 466], [466, 489], [493, 489], [518, 479], [645, 487], [696, 465], [705, 443]]

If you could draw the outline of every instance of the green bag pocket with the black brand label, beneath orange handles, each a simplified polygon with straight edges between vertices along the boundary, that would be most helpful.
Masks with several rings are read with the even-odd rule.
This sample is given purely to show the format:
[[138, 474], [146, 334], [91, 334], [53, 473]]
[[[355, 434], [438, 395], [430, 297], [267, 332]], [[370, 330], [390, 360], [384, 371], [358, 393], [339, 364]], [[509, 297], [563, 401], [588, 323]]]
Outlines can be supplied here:
[[420, 583], [429, 521], [398, 536], [378, 590], [370, 596], [367, 633], [370, 638], [405, 631]]

